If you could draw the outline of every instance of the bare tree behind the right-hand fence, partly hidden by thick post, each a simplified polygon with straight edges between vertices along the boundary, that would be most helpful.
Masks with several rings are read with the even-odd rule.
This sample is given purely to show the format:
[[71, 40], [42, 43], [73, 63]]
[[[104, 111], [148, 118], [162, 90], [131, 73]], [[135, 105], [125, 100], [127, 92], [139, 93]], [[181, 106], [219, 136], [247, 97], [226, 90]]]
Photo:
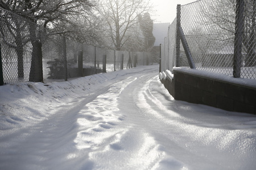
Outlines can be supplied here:
[[[224, 44], [234, 43], [236, 1], [218, 0], [201, 8], [204, 15], [204, 24], [210, 25], [210, 32], [220, 33], [218, 41]], [[256, 37], [255, 37], [255, 15], [256, 0], [245, 0], [243, 29], [243, 50], [246, 53], [245, 66], [256, 66]]]

